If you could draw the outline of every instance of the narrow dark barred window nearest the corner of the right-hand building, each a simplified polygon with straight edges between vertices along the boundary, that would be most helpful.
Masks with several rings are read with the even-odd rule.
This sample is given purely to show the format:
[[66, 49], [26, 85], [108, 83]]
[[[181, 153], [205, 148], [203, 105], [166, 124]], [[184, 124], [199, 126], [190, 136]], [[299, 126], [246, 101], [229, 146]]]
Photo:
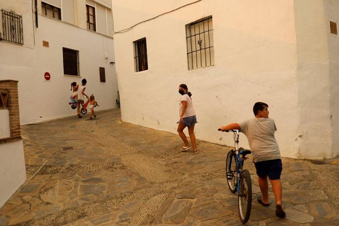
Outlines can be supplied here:
[[141, 38], [136, 40], [134, 43], [134, 62], [135, 62], [135, 71], [145, 71], [149, 69], [147, 63], [147, 47], [146, 47], [146, 38]]

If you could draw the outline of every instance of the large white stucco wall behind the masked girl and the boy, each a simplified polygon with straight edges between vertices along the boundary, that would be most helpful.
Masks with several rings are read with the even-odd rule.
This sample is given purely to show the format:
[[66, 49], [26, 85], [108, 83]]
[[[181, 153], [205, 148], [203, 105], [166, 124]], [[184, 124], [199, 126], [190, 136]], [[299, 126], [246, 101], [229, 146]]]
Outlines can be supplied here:
[[[283, 156], [336, 156], [330, 115], [335, 112], [335, 121], [338, 105], [330, 97], [338, 87], [330, 86], [335, 70], [331, 75], [328, 60], [328, 45], [336, 39], [328, 44], [334, 37], [327, 31], [325, 2], [305, 1], [202, 0], [116, 33], [122, 120], [176, 133], [178, 86], [184, 83], [193, 93], [199, 139], [232, 145], [232, 136], [217, 129], [254, 117], [253, 104], [263, 101], [276, 121]], [[138, 8], [133, 1], [112, 1], [115, 31], [195, 1], [166, 2], [143, 1]], [[210, 15], [215, 66], [188, 71], [185, 25]], [[133, 41], [143, 37], [149, 70], [136, 73]]]

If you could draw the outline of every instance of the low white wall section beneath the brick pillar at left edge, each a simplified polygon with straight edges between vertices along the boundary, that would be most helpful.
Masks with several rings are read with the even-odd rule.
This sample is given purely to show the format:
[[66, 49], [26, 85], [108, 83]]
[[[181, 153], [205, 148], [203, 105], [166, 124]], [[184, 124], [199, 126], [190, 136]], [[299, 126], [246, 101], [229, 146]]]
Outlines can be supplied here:
[[0, 143], [0, 207], [26, 180], [23, 141]]

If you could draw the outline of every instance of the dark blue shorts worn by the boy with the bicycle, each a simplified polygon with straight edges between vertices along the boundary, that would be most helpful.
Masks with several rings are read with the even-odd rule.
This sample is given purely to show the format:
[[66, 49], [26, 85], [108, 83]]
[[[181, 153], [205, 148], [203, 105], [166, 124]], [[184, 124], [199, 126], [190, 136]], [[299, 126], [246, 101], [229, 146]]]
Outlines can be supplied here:
[[283, 171], [281, 159], [255, 162], [257, 175], [264, 178], [266, 175], [270, 180], [279, 180]]

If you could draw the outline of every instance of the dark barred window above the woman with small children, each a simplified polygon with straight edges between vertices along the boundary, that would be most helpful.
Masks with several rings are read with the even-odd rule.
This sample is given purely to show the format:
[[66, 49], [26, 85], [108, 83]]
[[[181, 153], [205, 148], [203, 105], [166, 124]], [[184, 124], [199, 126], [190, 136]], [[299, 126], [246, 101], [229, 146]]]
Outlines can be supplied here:
[[63, 53], [63, 74], [79, 75], [79, 51], [62, 48]]

